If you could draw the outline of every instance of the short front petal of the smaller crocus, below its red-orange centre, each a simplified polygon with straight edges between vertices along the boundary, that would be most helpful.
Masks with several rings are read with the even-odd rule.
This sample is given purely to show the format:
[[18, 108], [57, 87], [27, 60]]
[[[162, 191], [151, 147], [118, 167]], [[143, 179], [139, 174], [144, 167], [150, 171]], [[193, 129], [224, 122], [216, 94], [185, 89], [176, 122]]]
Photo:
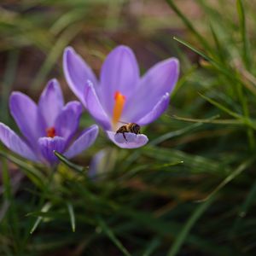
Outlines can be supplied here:
[[63, 137], [40, 137], [38, 146], [46, 163], [53, 164], [58, 161], [53, 151], [63, 153], [66, 140]]

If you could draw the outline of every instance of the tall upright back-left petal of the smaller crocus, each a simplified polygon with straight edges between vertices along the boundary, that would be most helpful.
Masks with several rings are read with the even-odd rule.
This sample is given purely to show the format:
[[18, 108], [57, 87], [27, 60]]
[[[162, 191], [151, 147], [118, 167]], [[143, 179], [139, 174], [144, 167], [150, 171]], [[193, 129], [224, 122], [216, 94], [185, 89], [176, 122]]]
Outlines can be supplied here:
[[38, 137], [44, 136], [42, 117], [30, 97], [18, 91], [13, 92], [9, 98], [9, 108], [20, 131], [32, 145], [38, 141]]

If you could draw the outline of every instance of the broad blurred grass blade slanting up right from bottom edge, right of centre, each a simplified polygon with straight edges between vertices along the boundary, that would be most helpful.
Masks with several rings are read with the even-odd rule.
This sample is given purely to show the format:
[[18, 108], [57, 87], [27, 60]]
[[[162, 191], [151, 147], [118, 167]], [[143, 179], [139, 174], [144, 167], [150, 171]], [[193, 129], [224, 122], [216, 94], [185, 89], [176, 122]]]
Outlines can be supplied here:
[[177, 235], [177, 238], [174, 241], [169, 252], [167, 253], [167, 256], [177, 255], [180, 248], [183, 246], [183, 243], [186, 241], [189, 231], [193, 228], [194, 224], [201, 217], [201, 215], [204, 212], [206, 212], [207, 208], [211, 206], [212, 201], [213, 201], [213, 198], [211, 198], [211, 200], [201, 203], [201, 205], [195, 209], [195, 212], [193, 212], [193, 214], [188, 219], [188, 221], [183, 225], [183, 228], [180, 231], [180, 233]]

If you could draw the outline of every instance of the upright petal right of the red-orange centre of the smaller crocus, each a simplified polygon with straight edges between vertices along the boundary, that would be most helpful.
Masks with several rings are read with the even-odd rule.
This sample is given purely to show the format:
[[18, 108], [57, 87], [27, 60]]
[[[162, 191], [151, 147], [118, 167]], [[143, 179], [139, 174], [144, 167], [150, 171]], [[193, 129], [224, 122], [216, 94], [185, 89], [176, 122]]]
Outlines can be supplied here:
[[68, 102], [55, 119], [56, 136], [64, 137], [67, 141], [73, 137], [73, 134], [78, 130], [81, 113], [82, 105], [80, 102]]

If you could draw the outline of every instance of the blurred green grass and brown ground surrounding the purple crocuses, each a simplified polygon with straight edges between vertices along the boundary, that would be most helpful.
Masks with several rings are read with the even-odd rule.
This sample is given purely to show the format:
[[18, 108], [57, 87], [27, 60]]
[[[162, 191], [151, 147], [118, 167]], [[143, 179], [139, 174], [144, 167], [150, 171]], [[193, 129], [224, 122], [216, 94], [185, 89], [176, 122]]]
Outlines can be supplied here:
[[[97, 74], [126, 44], [141, 73], [176, 56], [181, 75], [143, 148], [120, 150], [101, 132], [53, 174], [2, 146], [0, 255], [255, 255], [255, 11], [249, 0], [1, 1], [0, 120], [16, 131], [12, 90], [38, 100], [55, 77], [75, 98], [67, 45]], [[84, 113], [80, 125], [93, 122]]]

